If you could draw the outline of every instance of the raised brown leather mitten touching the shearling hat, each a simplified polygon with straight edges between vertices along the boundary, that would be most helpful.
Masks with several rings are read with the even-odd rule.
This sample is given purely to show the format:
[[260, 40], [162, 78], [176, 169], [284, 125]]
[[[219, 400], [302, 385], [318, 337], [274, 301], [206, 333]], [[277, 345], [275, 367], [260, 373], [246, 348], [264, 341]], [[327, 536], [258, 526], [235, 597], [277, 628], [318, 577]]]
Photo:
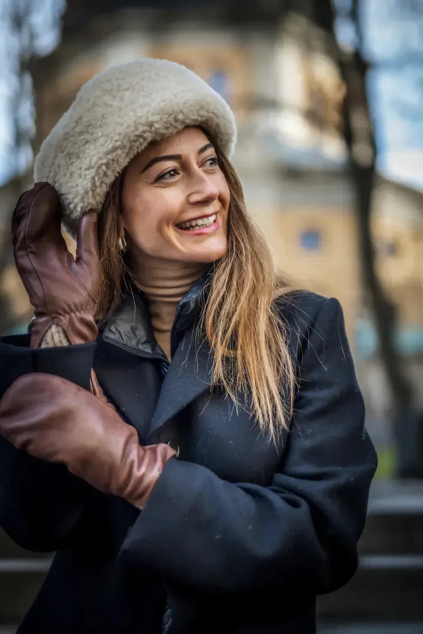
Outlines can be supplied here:
[[62, 208], [49, 183], [36, 183], [19, 198], [12, 216], [16, 268], [34, 306], [31, 347], [39, 347], [54, 323], [71, 344], [96, 339], [98, 299], [97, 214], [87, 212], [77, 230], [77, 257], [67, 250], [60, 225]]

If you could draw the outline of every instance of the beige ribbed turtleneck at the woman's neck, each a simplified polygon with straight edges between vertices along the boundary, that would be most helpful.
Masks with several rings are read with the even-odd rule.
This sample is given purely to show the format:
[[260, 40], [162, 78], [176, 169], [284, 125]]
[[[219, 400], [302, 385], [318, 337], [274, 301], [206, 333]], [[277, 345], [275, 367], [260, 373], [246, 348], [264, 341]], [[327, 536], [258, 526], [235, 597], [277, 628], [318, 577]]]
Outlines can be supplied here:
[[181, 269], [137, 267], [138, 287], [145, 294], [150, 310], [154, 336], [171, 360], [171, 329], [179, 301], [210, 264], [186, 264]]

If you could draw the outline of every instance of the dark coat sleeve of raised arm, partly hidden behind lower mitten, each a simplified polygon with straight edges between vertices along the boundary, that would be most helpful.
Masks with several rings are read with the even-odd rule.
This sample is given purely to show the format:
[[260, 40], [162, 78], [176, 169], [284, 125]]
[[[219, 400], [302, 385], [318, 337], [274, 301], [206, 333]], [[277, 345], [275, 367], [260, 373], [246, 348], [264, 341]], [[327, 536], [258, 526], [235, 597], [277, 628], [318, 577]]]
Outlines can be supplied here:
[[[0, 339], [0, 398], [30, 372], [56, 374], [89, 389], [95, 342], [30, 349], [29, 337]], [[65, 465], [34, 458], [0, 435], [0, 525], [20, 546], [53, 552], [81, 517], [91, 489]]]

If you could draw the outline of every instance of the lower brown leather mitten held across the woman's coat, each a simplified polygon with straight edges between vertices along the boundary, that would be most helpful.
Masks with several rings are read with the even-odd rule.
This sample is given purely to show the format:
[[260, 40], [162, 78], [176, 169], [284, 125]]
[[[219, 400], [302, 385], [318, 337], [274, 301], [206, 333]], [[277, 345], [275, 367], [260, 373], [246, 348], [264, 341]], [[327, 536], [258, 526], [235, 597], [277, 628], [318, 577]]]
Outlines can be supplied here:
[[19, 377], [0, 401], [0, 434], [17, 449], [70, 472], [103, 493], [145, 507], [166, 462], [167, 444], [142, 447], [115, 408], [65, 378]]

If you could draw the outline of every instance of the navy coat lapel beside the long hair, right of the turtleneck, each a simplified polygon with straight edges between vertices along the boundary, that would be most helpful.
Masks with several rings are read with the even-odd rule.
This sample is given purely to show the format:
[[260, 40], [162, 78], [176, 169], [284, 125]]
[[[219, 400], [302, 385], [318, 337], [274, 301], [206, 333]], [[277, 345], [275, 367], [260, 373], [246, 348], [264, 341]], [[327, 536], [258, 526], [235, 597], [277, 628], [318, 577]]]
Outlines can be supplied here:
[[162, 384], [152, 417], [149, 441], [168, 420], [183, 410], [211, 385], [212, 354], [206, 339], [195, 342], [195, 325], [179, 342]]

